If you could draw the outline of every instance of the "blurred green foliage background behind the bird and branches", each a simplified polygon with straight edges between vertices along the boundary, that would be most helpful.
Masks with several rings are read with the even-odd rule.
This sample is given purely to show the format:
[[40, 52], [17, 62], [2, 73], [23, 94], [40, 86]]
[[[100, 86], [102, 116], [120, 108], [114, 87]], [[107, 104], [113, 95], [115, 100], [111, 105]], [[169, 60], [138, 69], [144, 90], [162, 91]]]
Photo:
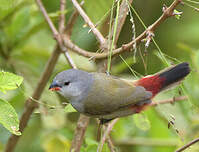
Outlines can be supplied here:
[[[146, 26], [151, 25], [162, 14], [163, 4], [172, 1], [134, 0], [133, 7]], [[188, 3], [185, 1], [186, 4]], [[57, 25], [59, 16], [59, 1], [43, 0], [51, 19]], [[191, 4], [191, 3], [189, 3]], [[199, 7], [199, 5], [195, 5]], [[94, 23], [100, 23], [99, 29], [107, 35], [109, 17], [112, 7], [111, 0], [85, 0], [84, 10]], [[179, 101], [174, 105], [160, 105], [150, 108], [139, 115], [120, 119], [111, 133], [116, 149], [121, 152], [173, 152], [188, 141], [199, 136], [199, 12], [187, 5], [177, 8], [183, 14], [180, 19], [175, 17], [166, 20], [155, 31], [155, 41], [170, 63], [189, 62], [191, 74], [183, 85], [161, 93], [155, 100], [179, 96], [179, 92], [188, 95], [189, 100]], [[74, 11], [71, 1], [67, 0], [66, 21]], [[144, 27], [132, 11], [136, 35]], [[84, 21], [78, 17], [71, 39], [81, 48], [95, 52], [98, 43], [94, 35], [84, 26]], [[118, 46], [132, 40], [132, 24], [127, 16], [122, 29]], [[24, 110], [25, 99], [31, 96], [44, 66], [56, 45], [52, 33], [44, 21], [33, 0], [0, 0], [0, 68], [24, 77], [23, 85], [7, 94], [0, 92], [0, 97], [9, 101], [20, 116]], [[138, 46], [136, 54], [122, 54], [131, 68], [142, 75], [153, 74], [165, 67], [158, 55], [157, 47], [151, 43], [144, 51], [144, 44]], [[139, 53], [140, 52], [140, 53]], [[86, 71], [96, 71], [94, 61], [71, 53], [78, 68]], [[140, 54], [143, 55], [143, 59]], [[136, 60], [135, 60], [136, 58]], [[144, 67], [144, 64], [147, 67]], [[70, 68], [63, 55], [54, 69], [53, 76], [59, 71]], [[131, 78], [134, 76], [120, 57], [112, 61], [111, 74]], [[49, 81], [50, 84], [51, 81]], [[49, 86], [48, 84], [48, 86]], [[40, 99], [49, 105], [60, 107], [58, 96], [48, 91], [48, 86]], [[180, 91], [179, 91], [180, 90]], [[67, 113], [63, 108], [48, 109], [40, 105], [28, 123], [21, 137], [16, 152], [62, 152], [69, 151], [73, 138], [77, 112]], [[174, 126], [168, 129], [168, 121], [175, 118]], [[94, 152], [97, 123], [91, 119], [86, 131], [82, 152]], [[177, 131], [176, 131], [177, 130]], [[10, 133], [0, 126], [0, 150], [3, 151]], [[109, 151], [105, 145], [104, 151]], [[199, 144], [195, 144], [187, 152], [198, 152]]]

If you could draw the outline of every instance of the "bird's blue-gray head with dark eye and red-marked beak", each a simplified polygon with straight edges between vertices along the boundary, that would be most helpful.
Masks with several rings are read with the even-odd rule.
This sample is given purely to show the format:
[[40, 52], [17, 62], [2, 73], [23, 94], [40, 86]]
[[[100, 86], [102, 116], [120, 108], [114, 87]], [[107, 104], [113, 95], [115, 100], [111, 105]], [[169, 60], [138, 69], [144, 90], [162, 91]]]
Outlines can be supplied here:
[[88, 72], [70, 69], [58, 73], [50, 85], [50, 90], [58, 91], [69, 101], [81, 100], [92, 84], [92, 75]]

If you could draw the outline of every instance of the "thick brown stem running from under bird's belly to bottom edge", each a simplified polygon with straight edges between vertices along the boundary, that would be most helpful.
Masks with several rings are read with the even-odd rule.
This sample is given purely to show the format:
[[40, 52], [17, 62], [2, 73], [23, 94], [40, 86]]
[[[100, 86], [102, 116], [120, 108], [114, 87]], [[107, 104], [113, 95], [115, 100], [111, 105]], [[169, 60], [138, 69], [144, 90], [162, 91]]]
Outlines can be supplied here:
[[89, 120], [89, 117], [80, 114], [79, 120], [77, 122], [77, 128], [75, 130], [75, 136], [71, 144], [70, 152], [80, 151]]

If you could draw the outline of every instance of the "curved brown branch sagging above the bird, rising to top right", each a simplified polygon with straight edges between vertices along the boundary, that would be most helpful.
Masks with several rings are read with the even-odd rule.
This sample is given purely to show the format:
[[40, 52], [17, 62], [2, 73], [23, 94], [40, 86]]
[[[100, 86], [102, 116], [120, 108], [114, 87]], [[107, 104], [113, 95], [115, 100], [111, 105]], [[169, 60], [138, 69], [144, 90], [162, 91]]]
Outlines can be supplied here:
[[[177, 5], [180, 2], [181, 2], [181, 0], [175, 0], [168, 8], [164, 9], [162, 16], [157, 21], [155, 21], [151, 26], [149, 26], [143, 33], [141, 33], [133, 41], [122, 45], [122, 47], [120, 47], [120, 48], [113, 50], [112, 55], [114, 56], [117, 54], [121, 54], [121, 53], [129, 50], [131, 47], [133, 47], [134, 43], [139, 44], [142, 39], [146, 38], [148, 33], [153, 33], [160, 26], [160, 24], [162, 24], [167, 18], [173, 16], [173, 10], [177, 7]], [[89, 51], [79, 48], [77, 45], [75, 45], [70, 40], [69, 40], [69, 42], [66, 42], [66, 41], [68, 41], [68, 39], [64, 40], [64, 44], [68, 49], [71, 49], [73, 52], [76, 52], [77, 54], [85, 56], [85, 57], [94, 58], [94, 59], [104, 59], [104, 58], [107, 58], [109, 55], [108, 52], [104, 52], [104, 53], [89, 52]]]

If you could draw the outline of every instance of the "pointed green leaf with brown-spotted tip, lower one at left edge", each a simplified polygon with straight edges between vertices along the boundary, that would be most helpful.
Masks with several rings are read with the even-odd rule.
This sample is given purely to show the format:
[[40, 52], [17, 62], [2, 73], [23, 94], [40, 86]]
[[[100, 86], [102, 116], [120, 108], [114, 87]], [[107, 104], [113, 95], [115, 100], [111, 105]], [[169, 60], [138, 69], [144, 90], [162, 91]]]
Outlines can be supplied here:
[[21, 135], [19, 131], [19, 119], [15, 109], [7, 102], [0, 99], [0, 123], [15, 135]]

